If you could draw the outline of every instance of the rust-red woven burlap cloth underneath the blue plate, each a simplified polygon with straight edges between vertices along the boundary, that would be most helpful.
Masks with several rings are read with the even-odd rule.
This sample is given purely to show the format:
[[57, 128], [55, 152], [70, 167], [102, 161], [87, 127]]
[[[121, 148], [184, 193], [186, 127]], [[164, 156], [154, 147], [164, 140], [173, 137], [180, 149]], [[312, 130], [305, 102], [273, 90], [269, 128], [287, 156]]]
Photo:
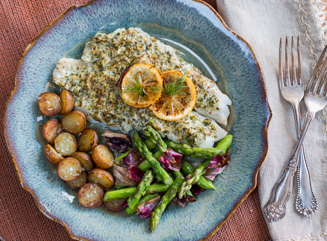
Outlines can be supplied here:
[[[0, 113], [14, 87], [17, 60], [26, 45], [71, 4], [85, 0], [0, 0]], [[207, 0], [216, 8], [215, 0]], [[0, 122], [2, 130], [2, 122]], [[19, 130], [17, 130], [19, 131]], [[3, 132], [0, 132], [0, 240], [64, 241], [64, 227], [45, 217], [19, 184]], [[269, 232], [255, 189], [211, 241], [266, 241]]]

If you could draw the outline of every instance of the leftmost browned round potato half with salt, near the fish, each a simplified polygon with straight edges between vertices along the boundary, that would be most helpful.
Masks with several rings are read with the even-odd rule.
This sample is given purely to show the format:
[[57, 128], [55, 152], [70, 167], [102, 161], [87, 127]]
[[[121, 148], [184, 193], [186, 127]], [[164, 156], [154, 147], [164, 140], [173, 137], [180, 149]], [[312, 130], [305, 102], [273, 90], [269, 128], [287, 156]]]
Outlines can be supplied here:
[[61, 101], [58, 95], [51, 92], [43, 92], [39, 95], [38, 106], [43, 114], [54, 116], [60, 112]]

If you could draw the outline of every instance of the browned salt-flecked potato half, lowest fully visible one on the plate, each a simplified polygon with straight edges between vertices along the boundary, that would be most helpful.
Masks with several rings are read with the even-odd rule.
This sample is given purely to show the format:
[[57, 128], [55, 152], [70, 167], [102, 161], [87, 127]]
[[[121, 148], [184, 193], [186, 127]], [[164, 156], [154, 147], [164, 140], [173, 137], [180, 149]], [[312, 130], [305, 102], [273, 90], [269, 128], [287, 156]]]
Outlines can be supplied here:
[[103, 189], [100, 185], [89, 182], [81, 186], [77, 198], [84, 207], [96, 208], [102, 204], [103, 195]]

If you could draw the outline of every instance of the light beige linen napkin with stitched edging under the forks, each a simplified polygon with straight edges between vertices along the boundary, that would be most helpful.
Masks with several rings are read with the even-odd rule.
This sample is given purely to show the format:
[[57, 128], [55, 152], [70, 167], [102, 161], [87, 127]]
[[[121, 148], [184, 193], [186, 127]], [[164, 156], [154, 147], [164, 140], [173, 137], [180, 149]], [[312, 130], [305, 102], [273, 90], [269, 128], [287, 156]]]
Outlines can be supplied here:
[[[281, 97], [278, 87], [279, 41], [282, 37], [284, 62], [285, 37], [288, 37], [290, 56], [291, 37], [292, 35], [295, 37], [296, 47], [297, 36], [300, 36], [306, 88], [313, 66], [326, 43], [325, 3], [315, 0], [217, 0], [217, 9], [227, 26], [252, 45], [266, 79], [268, 101], [273, 117], [268, 130], [267, 158], [258, 175], [258, 190], [263, 211], [270, 199], [272, 188], [281, 177], [297, 142], [291, 105]], [[303, 119], [306, 112], [303, 100], [300, 107]], [[269, 222], [265, 218], [273, 240], [327, 240], [325, 125], [325, 115], [318, 112], [304, 140], [312, 185], [318, 199], [318, 210], [310, 218], [296, 211], [295, 176], [293, 193], [286, 205], [286, 215], [277, 222]]]

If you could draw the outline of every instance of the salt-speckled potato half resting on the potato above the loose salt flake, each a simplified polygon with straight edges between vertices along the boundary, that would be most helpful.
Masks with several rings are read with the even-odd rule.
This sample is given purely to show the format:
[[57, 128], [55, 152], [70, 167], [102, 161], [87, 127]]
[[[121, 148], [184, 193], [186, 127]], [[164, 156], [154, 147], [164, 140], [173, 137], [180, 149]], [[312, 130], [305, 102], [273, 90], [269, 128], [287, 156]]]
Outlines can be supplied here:
[[75, 158], [65, 158], [58, 164], [58, 175], [64, 181], [74, 181], [81, 174], [82, 166]]

